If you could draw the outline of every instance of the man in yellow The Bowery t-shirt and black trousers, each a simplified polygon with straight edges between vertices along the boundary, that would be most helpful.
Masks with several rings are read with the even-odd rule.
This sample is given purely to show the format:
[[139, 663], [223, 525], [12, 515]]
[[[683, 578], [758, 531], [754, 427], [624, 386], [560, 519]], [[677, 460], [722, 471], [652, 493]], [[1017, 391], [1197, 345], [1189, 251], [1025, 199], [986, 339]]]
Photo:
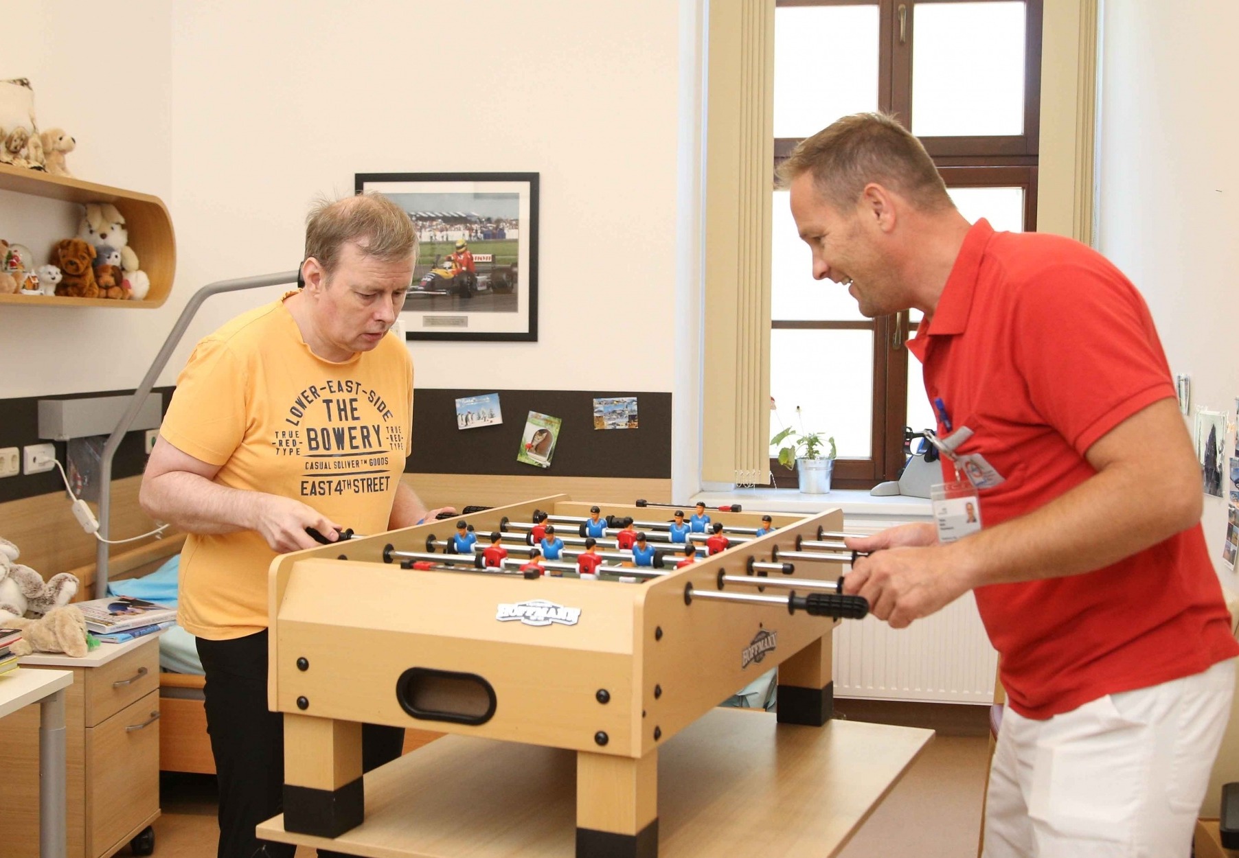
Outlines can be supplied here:
[[[178, 620], [197, 638], [219, 776], [219, 858], [291, 858], [254, 827], [281, 811], [284, 719], [266, 709], [266, 571], [276, 553], [352, 527], [406, 527], [427, 511], [400, 482], [413, 362], [389, 336], [418, 235], [382, 194], [321, 203], [306, 225], [304, 287], [198, 343], [142, 478], [151, 516], [190, 534]], [[455, 511], [455, 510], [446, 510]], [[404, 730], [367, 724], [367, 771]], [[328, 854], [328, 853], [320, 853]]]

